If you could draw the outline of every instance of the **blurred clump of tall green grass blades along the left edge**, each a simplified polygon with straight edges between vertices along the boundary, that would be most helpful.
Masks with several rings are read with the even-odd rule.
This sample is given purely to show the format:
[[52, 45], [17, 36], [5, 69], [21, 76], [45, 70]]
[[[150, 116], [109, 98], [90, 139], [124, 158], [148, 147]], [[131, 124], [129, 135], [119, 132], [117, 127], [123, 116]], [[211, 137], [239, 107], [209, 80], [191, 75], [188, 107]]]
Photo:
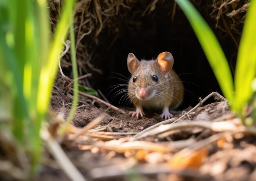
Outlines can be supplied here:
[[9, 121], [19, 141], [17, 147], [22, 145], [18, 149], [32, 163], [31, 173], [42, 154], [41, 123], [48, 111], [73, 3], [63, 2], [51, 41], [46, 0], [0, 0], [0, 118]]

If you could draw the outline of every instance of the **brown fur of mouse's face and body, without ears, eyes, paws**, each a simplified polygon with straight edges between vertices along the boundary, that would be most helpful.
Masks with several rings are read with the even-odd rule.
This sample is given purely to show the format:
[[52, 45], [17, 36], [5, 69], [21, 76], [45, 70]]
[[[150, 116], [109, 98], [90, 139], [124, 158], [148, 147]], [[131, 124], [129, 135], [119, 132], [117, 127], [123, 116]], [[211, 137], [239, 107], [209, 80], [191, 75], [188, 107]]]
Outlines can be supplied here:
[[[153, 75], [158, 77], [157, 82], [152, 79]], [[137, 81], [133, 83], [132, 79], [135, 76], [137, 76]], [[153, 92], [155, 91], [155, 96], [148, 100], [137, 98], [135, 93], [142, 87], [146, 88], [148, 96], [154, 94]], [[157, 109], [171, 107], [175, 109], [182, 103], [184, 87], [174, 70], [171, 69], [166, 78], [156, 60], [141, 60], [130, 78], [128, 95], [136, 107], [142, 106]]]

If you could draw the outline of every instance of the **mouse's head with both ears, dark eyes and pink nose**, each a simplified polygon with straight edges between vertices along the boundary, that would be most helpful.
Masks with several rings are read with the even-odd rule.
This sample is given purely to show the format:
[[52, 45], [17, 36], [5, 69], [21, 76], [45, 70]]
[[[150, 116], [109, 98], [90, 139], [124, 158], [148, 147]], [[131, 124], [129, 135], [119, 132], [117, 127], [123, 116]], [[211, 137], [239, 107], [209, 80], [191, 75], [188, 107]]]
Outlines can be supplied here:
[[134, 54], [130, 53], [127, 58], [127, 66], [132, 74], [129, 91], [134, 91], [136, 97], [141, 100], [149, 99], [156, 94], [155, 89], [159, 90], [161, 86], [164, 87], [168, 83], [166, 80], [168, 72], [173, 67], [173, 56], [166, 51], [159, 54], [156, 60], [139, 61]]

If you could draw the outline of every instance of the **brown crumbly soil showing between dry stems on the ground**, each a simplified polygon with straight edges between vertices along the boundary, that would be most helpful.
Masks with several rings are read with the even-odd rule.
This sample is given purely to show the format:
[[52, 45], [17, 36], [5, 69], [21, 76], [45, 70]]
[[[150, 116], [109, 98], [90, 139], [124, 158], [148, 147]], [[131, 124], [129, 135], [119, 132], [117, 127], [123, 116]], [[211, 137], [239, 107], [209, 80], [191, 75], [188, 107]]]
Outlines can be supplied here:
[[[61, 84], [59, 84], [61, 83]], [[52, 110], [66, 118], [69, 115], [72, 96], [69, 90], [64, 89], [63, 79], [58, 76], [55, 88], [52, 94], [51, 107]], [[218, 101], [218, 100], [217, 100]], [[107, 107], [101, 103], [96, 103], [91, 99], [80, 96], [79, 105], [85, 105], [76, 110], [72, 124], [76, 127], [84, 127], [99, 116], [103, 116], [103, 121], [96, 127], [107, 127], [107, 132], [140, 132], [147, 127], [155, 125], [162, 120], [159, 116], [146, 112], [144, 118], [131, 118], [128, 112], [133, 108], [121, 107], [125, 110], [125, 114]], [[192, 107], [180, 110], [175, 115], [182, 116], [182, 112], [188, 112]], [[184, 113], [184, 112], [183, 112]], [[213, 102], [207, 105], [198, 107], [193, 114], [185, 116], [180, 123], [187, 121], [202, 121], [202, 120], [218, 120], [223, 115], [229, 113], [229, 108], [226, 101]], [[179, 141], [195, 138], [200, 141], [213, 135], [215, 132], [207, 129], [185, 128], [171, 134], [169, 139], [162, 141]], [[118, 138], [125, 136], [117, 136]], [[130, 137], [130, 136], [128, 136]], [[153, 136], [154, 137], [154, 136]], [[171, 139], [171, 140], [170, 140]], [[100, 141], [96, 139], [94, 141]], [[145, 140], [145, 139], [144, 139]], [[146, 138], [147, 141], [161, 143], [156, 138]], [[92, 147], [90, 149], [81, 149], [82, 147], [72, 141], [63, 141], [62, 147], [65, 153], [70, 158], [72, 163], [81, 171], [83, 176], [88, 180], [133, 180], [141, 179], [147, 181], [164, 181], [164, 180], [218, 180], [218, 181], [241, 181], [241, 180], [256, 180], [256, 141], [255, 136], [236, 135], [229, 136], [222, 147], [219, 147], [216, 142], [207, 146], [209, 154], [196, 172], [184, 172], [177, 176], [175, 171], [172, 172], [166, 168], [166, 160], [163, 159], [157, 163], [149, 163], [148, 161], [138, 161], [137, 165], [129, 170], [137, 170], [133, 174], [128, 171], [120, 170], [119, 165], [129, 162], [133, 158], [134, 152], [118, 153], [111, 150]], [[172, 153], [177, 152], [174, 151]], [[132, 156], [133, 155], [133, 156]], [[121, 167], [121, 166], [120, 166]], [[114, 170], [113, 170], [114, 169]], [[148, 169], [150, 174], [144, 173]], [[167, 169], [167, 171], [166, 171]], [[151, 171], [150, 171], [151, 170]], [[117, 174], [118, 173], [118, 174]], [[143, 174], [141, 174], [143, 173]], [[165, 173], [165, 174], [164, 174]], [[168, 173], [168, 174], [166, 174]], [[133, 178], [133, 179], [132, 179]], [[45, 150], [44, 159], [40, 176], [36, 179], [40, 181], [53, 180], [70, 180], [63, 170], [54, 161], [47, 149]]]

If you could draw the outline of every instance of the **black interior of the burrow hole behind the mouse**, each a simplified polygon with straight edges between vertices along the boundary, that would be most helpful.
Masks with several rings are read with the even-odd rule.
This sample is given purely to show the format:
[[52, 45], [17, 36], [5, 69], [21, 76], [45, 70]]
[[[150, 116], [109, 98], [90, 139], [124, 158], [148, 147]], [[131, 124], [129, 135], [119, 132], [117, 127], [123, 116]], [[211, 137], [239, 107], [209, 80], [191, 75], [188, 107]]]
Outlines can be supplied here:
[[[177, 8], [172, 22], [171, 14], [168, 15], [170, 9], [162, 6], [161, 3], [157, 4], [149, 15], [142, 16], [143, 11], [136, 9], [145, 9], [144, 6], [146, 4], [139, 1], [137, 6], [129, 11], [126, 10], [125, 13], [120, 10], [117, 17], [118, 35], [110, 34], [105, 29], [98, 37], [99, 45], [94, 50], [98, 53], [94, 55], [93, 63], [104, 73], [99, 75], [94, 72], [94, 77], [90, 79], [92, 87], [100, 89], [113, 105], [130, 106], [126, 92], [118, 94], [118, 91], [126, 87], [117, 87], [119, 84], [127, 84], [117, 78], [130, 78], [126, 62], [128, 54], [132, 52], [139, 60], [150, 60], [157, 58], [157, 55], [163, 51], [169, 51], [174, 57], [173, 69], [184, 81], [185, 95], [180, 109], [196, 105], [199, 97], [204, 98], [211, 92], [222, 94], [184, 13]], [[200, 13], [220, 40], [227, 60], [231, 58], [235, 60], [237, 49], [234, 42], [229, 36], [223, 38], [223, 33], [215, 28], [216, 21], [209, 19], [208, 13], [204, 11], [204, 5], [200, 7]]]

